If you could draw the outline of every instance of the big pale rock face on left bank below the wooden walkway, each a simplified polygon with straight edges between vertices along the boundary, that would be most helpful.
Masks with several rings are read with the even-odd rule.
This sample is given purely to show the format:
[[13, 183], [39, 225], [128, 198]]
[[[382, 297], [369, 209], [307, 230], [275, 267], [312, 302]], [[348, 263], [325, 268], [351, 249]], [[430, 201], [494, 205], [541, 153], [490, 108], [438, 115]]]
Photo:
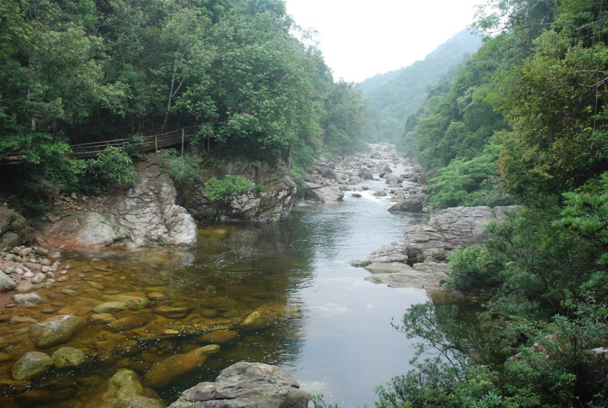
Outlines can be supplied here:
[[53, 246], [195, 246], [197, 225], [175, 204], [176, 197], [171, 178], [157, 165], [148, 164], [127, 196], [113, 199], [104, 213], [81, 211], [67, 216], [47, 225], [39, 238]]

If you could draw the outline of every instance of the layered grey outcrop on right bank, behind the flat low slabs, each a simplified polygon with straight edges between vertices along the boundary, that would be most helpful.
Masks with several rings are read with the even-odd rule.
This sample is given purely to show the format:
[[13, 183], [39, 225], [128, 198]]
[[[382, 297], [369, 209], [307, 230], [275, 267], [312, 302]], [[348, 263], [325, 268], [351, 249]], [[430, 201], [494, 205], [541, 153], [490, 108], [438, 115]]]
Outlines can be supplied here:
[[456, 248], [483, 241], [481, 225], [493, 220], [504, 220], [507, 211], [518, 207], [454, 207], [433, 214], [426, 225], [413, 225], [405, 232], [406, 254], [411, 262], [426, 258], [445, 260]]

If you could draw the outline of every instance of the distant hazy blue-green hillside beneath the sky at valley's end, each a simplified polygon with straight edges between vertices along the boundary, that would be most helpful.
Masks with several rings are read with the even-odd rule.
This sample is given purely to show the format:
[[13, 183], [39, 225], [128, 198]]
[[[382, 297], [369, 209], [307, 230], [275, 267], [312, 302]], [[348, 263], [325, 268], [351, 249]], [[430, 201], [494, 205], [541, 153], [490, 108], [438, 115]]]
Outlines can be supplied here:
[[460, 31], [422, 61], [360, 83], [358, 88], [367, 104], [365, 138], [395, 141], [406, 118], [420, 108], [427, 92], [453, 78], [456, 66], [480, 45], [480, 36]]

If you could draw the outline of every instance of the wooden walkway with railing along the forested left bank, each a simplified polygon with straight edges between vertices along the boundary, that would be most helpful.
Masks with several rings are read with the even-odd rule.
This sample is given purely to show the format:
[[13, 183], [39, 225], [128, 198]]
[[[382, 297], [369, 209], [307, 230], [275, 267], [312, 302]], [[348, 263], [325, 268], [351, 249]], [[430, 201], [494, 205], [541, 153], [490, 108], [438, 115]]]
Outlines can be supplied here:
[[[172, 132], [143, 136], [142, 138], [129, 137], [127, 139], [112, 139], [106, 141], [92, 141], [90, 143], [80, 143], [71, 145], [71, 153], [68, 157], [75, 159], [88, 159], [95, 157], [104, 149], [114, 146], [127, 153], [132, 152], [157, 152], [160, 148], [181, 145], [181, 155], [183, 155], [184, 142], [197, 134], [197, 126], [183, 127]], [[15, 153], [0, 159], [0, 165], [19, 164], [25, 159], [23, 153]]]

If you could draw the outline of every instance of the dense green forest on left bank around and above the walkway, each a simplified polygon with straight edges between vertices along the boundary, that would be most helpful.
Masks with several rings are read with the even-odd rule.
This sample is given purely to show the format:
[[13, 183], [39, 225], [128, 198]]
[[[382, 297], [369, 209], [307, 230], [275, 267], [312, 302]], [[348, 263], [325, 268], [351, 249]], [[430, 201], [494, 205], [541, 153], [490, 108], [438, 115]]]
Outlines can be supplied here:
[[360, 94], [307, 36], [281, 0], [2, 1], [0, 161], [24, 156], [3, 189], [34, 211], [129, 181], [122, 152], [85, 162], [70, 145], [192, 125], [193, 150], [300, 172], [360, 147]]

